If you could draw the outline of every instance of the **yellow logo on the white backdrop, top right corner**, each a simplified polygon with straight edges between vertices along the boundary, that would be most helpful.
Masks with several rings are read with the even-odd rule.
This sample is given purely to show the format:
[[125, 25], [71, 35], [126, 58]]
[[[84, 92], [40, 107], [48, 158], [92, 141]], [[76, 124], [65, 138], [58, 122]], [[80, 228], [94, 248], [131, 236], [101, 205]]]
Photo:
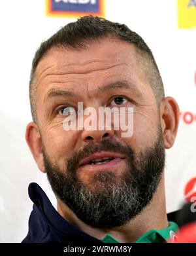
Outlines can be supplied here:
[[196, 28], [196, 0], [178, 1], [178, 28]]

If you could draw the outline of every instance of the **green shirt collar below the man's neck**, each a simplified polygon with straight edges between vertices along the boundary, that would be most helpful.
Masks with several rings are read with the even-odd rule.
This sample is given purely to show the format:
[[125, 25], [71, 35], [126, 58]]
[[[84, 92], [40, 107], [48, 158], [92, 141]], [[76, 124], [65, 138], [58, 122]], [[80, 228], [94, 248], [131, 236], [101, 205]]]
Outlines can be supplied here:
[[[178, 225], [172, 221], [169, 221], [169, 227], [162, 230], [152, 229], [143, 234], [136, 243], [163, 243], [171, 239], [172, 242], [176, 240], [176, 232], [178, 231]], [[119, 243], [118, 240], [113, 238], [110, 234], [101, 239], [104, 243]]]

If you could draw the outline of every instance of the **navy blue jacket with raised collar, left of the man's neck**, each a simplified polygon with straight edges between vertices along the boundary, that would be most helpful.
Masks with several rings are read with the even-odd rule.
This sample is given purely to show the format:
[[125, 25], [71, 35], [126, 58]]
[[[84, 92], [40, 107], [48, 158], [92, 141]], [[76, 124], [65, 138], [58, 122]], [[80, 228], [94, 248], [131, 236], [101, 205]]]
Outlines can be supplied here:
[[29, 217], [29, 232], [22, 243], [85, 242], [103, 244], [97, 238], [76, 229], [63, 219], [37, 183], [29, 185], [29, 197], [34, 205]]

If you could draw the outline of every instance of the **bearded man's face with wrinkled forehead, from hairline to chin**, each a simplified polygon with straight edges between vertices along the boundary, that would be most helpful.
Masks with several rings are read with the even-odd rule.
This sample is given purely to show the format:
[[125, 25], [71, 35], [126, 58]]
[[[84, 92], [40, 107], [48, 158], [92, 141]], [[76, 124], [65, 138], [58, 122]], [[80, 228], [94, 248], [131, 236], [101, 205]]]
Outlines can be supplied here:
[[[57, 197], [90, 225], [125, 224], [152, 199], [165, 160], [157, 103], [134, 46], [103, 39], [80, 52], [53, 49], [36, 78], [41, 169]], [[78, 102], [97, 111], [133, 107], [133, 136], [63, 130], [62, 114]]]

